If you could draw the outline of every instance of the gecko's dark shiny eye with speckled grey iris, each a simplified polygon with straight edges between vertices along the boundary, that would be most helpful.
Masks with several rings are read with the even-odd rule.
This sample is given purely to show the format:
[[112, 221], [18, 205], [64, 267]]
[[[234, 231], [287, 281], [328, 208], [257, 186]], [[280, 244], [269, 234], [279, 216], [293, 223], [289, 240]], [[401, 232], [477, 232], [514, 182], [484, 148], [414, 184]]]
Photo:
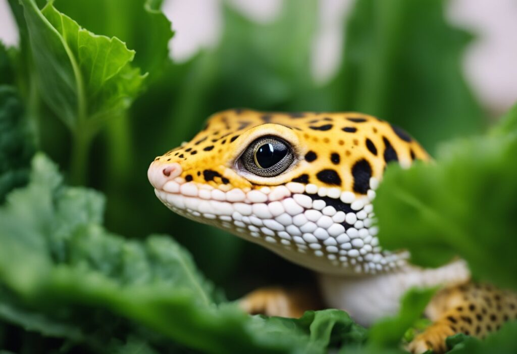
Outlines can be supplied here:
[[251, 143], [241, 157], [249, 172], [261, 177], [278, 176], [294, 160], [291, 147], [276, 137], [261, 137]]

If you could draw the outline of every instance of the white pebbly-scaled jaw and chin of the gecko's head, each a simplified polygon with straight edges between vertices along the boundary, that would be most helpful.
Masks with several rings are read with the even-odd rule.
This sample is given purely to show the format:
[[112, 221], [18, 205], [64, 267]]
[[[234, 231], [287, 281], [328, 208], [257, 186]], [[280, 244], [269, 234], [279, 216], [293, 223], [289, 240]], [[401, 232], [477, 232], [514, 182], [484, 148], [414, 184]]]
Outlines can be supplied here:
[[177, 177], [155, 189], [171, 210], [214, 225], [303, 267], [327, 274], [376, 274], [406, 264], [406, 252], [378, 245], [372, 200], [339, 188], [289, 182], [285, 186], [243, 191], [227, 185], [185, 182]]

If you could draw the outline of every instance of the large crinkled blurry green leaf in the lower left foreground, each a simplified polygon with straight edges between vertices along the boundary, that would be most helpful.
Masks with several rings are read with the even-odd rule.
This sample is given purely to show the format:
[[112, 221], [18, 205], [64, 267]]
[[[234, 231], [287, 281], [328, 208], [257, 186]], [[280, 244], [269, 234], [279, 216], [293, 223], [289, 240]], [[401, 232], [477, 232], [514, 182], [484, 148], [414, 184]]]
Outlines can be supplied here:
[[216, 305], [213, 286], [183, 248], [165, 236], [132, 241], [110, 234], [100, 225], [102, 206], [99, 193], [63, 186], [55, 165], [34, 158], [31, 182], [0, 207], [0, 283], [41, 316], [21, 307], [4, 313], [11, 322], [42, 332], [48, 321], [53, 335], [80, 333], [74, 340], [93, 348], [99, 326], [110, 333], [116, 318], [205, 352], [318, 353], [364, 341], [366, 331], [338, 310], [287, 319]]

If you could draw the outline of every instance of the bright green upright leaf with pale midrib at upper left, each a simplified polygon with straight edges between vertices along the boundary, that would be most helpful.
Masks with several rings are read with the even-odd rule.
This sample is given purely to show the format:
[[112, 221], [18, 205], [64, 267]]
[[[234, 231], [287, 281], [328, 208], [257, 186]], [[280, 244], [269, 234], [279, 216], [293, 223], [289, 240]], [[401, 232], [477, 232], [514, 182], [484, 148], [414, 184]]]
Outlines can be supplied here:
[[126, 109], [144, 76], [131, 67], [134, 51], [118, 38], [97, 36], [48, 3], [21, 0], [41, 96], [72, 131], [95, 131]]

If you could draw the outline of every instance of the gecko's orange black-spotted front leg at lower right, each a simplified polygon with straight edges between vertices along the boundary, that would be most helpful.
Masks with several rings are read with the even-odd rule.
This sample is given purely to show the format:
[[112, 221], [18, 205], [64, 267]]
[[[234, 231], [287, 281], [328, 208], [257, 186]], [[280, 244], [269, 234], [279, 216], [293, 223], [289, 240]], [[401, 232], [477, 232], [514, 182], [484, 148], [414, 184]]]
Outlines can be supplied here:
[[409, 350], [445, 352], [446, 338], [457, 333], [483, 338], [507, 320], [517, 318], [516, 307], [514, 293], [490, 285], [471, 283], [444, 289], [428, 307], [434, 323], [415, 337]]

